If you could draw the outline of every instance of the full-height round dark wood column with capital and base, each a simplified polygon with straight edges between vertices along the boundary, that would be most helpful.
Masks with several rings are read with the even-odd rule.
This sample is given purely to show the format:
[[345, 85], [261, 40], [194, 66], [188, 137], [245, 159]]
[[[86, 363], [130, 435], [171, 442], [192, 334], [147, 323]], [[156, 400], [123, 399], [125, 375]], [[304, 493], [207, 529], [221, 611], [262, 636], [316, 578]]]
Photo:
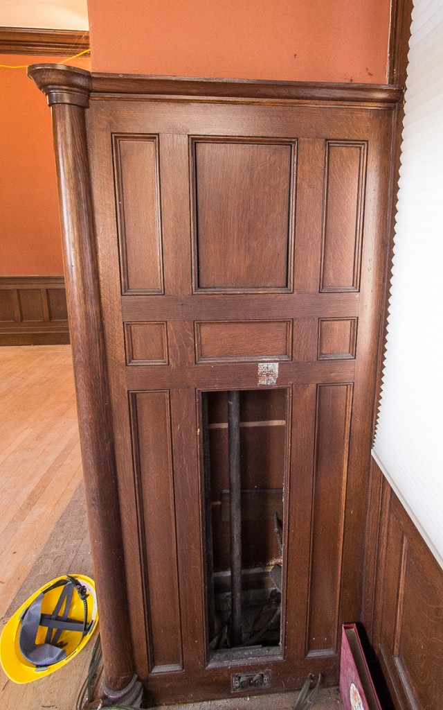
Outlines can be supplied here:
[[85, 109], [91, 75], [65, 65], [33, 65], [28, 75], [52, 107], [62, 219], [69, 330], [92, 556], [100, 615], [104, 694], [140, 702], [134, 673], [120, 525], [116, 459], [101, 322]]

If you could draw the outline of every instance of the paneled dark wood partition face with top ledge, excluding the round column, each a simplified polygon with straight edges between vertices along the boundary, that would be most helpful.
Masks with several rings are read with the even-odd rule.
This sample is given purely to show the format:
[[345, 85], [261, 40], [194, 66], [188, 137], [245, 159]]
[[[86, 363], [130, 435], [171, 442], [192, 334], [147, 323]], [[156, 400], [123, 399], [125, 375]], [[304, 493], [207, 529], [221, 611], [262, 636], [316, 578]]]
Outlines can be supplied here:
[[[337, 682], [340, 625], [360, 618], [400, 93], [106, 75], [92, 88], [100, 348], [135, 672], [157, 703], [250, 694], [244, 674], [259, 674], [257, 692], [296, 689], [308, 672]], [[225, 653], [210, 648], [210, 567], [220, 576], [226, 550], [208, 552], [211, 525], [223, 541], [229, 520], [232, 391], [245, 558], [278, 552], [257, 552], [271, 529], [257, 520], [277, 510], [283, 574], [279, 643]]]

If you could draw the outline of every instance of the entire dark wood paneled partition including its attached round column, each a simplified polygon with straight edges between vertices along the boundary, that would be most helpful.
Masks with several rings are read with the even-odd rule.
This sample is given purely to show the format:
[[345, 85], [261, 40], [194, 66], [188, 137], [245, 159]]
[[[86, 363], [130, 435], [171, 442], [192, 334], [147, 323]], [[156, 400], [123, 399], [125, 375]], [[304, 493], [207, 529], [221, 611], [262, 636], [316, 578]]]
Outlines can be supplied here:
[[[286, 604], [286, 648], [279, 655], [272, 651], [256, 658], [254, 665], [266, 663], [274, 688], [287, 689], [288, 683], [297, 687], [306, 672], [315, 671], [322, 672], [325, 682], [336, 682], [340, 623], [358, 619], [361, 608], [362, 563], [356, 569], [355, 560], [362, 558], [364, 542], [382, 236], [388, 217], [385, 185], [391, 176], [386, 155], [399, 92], [392, 87], [291, 82], [97, 78], [70, 67], [40, 66], [30, 73], [53, 109], [67, 299], [108, 686], [120, 689], [129, 684], [136, 667], [157, 702], [230, 694], [230, 668], [218, 657], [211, 660], [206, 638], [198, 392], [267, 386], [257, 381], [257, 359], [274, 354], [281, 360], [276, 363], [278, 387], [294, 388], [305, 397], [306, 407], [313, 404], [313, 391], [320, 392], [317, 421], [313, 416], [302, 432], [304, 458], [299, 461], [299, 453], [294, 454], [298, 471], [291, 479], [304, 478], [300, 471], [310, 471], [315, 459], [309, 474], [314, 474], [315, 488], [313, 494], [310, 484], [303, 483], [301, 492], [292, 488], [287, 523], [291, 530], [287, 577], [296, 582], [296, 593], [304, 595], [297, 609], [301, 613], [296, 617]], [[113, 153], [116, 143], [118, 151]], [[270, 182], [257, 174], [257, 166], [269, 165]], [[339, 271], [340, 229], [323, 225], [321, 217], [325, 165], [326, 217], [333, 222], [341, 219], [347, 229], [346, 271]], [[142, 169], [145, 182], [138, 177]], [[228, 182], [234, 172], [235, 190]], [[249, 175], [254, 175], [257, 194], [245, 204], [240, 188]], [[343, 192], [342, 179], [352, 190]], [[309, 199], [313, 192], [314, 207]], [[210, 249], [211, 202], [216, 204], [220, 194], [232, 217], [230, 252], [240, 254], [242, 273], [231, 271], [228, 259], [223, 264], [220, 253], [213, 259]], [[143, 205], [149, 219], [138, 219]], [[267, 244], [262, 244], [257, 225], [267, 223], [276, 206], [284, 214], [279, 222], [280, 251], [267, 273], [269, 259], [263, 254], [272, 234], [269, 230]], [[222, 217], [220, 236], [227, 231]], [[244, 244], [240, 239], [239, 221], [248, 226], [248, 235], [259, 235], [254, 236], [257, 254], [249, 253], [249, 241]], [[298, 266], [294, 253], [301, 256]], [[202, 290], [206, 293], [198, 293]], [[296, 321], [304, 316], [304, 324], [294, 323], [294, 314]], [[211, 341], [211, 329], [225, 333], [227, 328], [232, 331], [232, 323], [237, 332], [242, 329], [235, 352], [223, 341]], [[249, 334], [243, 330], [246, 326]], [[255, 344], [251, 328], [258, 334]], [[279, 339], [276, 345], [271, 342], [271, 351], [269, 332]], [[292, 337], [293, 332], [302, 337]], [[150, 342], [147, 333], [154, 333], [156, 341]], [[227, 362], [232, 358], [235, 366]], [[134, 400], [136, 411], [133, 407], [130, 412], [128, 401]], [[155, 403], [153, 409], [162, 412], [162, 432], [155, 441], [147, 403]], [[294, 412], [299, 416], [297, 407], [298, 400]], [[330, 427], [334, 421], [335, 428]], [[164, 443], [168, 437], [172, 446]], [[156, 448], [159, 442], [162, 450]], [[332, 476], [328, 451], [337, 454]], [[152, 478], [156, 467], [160, 474]], [[157, 481], [164, 479], [169, 488], [157, 491]], [[134, 481], [137, 509], [132, 504]], [[159, 508], [169, 506], [167, 519], [153, 510], [156, 493], [164, 496]], [[298, 496], [307, 506], [299, 504]], [[157, 537], [152, 532], [160, 525], [167, 529], [169, 597], [162, 592], [165, 584], [158, 571], [159, 530], [154, 530]], [[300, 535], [294, 542], [296, 528]], [[327, 532], [331, 529], [333, 535]], [[299, 550], [299, 541], [310, 531], [310, 549], [303, 542]], [[311, 567], [310, 557], [318, 550], [320, 562]], [[327, 574], [320, 569], [322, 564]], [[142, 587], [140, 601], [137, 590]], [[174, 608], [169, 626], [164, 599]], [[303, 643], [307, 639], [307, 648], [298, 648], [298, 630]], [[251, 660], [239, 659], [237, 670], [246, 672]]]

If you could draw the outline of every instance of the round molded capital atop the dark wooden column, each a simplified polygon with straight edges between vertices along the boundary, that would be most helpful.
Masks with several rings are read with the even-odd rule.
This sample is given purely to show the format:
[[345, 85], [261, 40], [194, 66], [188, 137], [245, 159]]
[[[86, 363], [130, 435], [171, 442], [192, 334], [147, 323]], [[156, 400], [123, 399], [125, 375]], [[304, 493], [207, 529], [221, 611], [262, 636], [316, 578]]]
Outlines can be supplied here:
[[91, 73], [65, 64], [32, 64], [28, 77], [45, 94], [49, 106], [72, 104], [86, 108], [91, 94]]

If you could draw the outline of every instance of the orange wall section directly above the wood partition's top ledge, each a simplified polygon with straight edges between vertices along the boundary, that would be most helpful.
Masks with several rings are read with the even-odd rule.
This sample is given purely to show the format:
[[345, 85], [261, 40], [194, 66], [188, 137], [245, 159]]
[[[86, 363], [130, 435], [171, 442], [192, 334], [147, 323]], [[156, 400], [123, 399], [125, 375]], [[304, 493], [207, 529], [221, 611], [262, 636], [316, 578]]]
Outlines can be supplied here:
[[88, 0], [92, 68], [386, 82], [390, 0]]

